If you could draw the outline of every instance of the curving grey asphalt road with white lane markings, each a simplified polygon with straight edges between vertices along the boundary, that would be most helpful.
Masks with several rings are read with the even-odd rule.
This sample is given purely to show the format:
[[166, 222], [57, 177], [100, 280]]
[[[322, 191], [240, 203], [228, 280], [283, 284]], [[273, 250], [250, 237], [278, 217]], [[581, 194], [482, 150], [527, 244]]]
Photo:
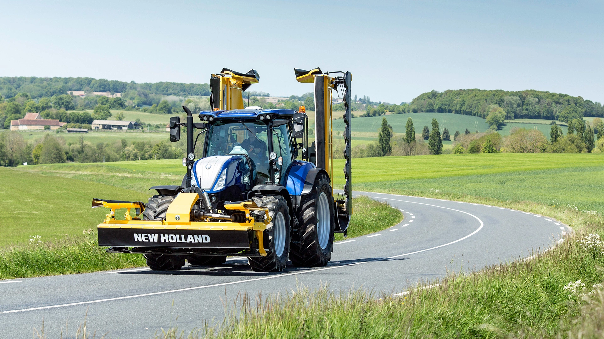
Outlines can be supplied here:
[[[245, 258], [220, 267], [148, 268], [0, 281], [0, 338], [31, 338], [44, 322], [59, 338], [83, 322], [108, 338], [149, 338], [159, 328], [190, 331], [220, 322], [225, 300], [291, 293], [297, 285], [401, 293], [449, 270], [480, 270], [555, 246], [570, 229], [550, 218], [482, 204], [355, 192], [387, 201], [405, 215], [390, 229], [336, 242], [321, 268], [254, 273]], [[119, 255], [119, 254], [115, 254]], [[64, 335], [63, 335], [64, 336]]]

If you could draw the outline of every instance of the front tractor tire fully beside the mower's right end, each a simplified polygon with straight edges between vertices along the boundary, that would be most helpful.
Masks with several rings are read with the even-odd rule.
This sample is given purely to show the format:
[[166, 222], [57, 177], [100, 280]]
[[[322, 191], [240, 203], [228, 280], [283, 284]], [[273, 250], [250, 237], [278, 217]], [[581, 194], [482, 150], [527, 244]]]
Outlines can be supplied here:
[[[266, 256], [248, 257], [249, 267], [257, 272], [282, 271], [288, 264], [289, 243], [291, 241], [288, 203], [281, 195], [265, 195], [252, 199], [258, 206], [268, 208], [268, 214], [272, 220], [271, 223], [266, 225], [264, 232], [263, 242]], [[275, 229], [277, 229], [278, 237], [274, 236]]]

